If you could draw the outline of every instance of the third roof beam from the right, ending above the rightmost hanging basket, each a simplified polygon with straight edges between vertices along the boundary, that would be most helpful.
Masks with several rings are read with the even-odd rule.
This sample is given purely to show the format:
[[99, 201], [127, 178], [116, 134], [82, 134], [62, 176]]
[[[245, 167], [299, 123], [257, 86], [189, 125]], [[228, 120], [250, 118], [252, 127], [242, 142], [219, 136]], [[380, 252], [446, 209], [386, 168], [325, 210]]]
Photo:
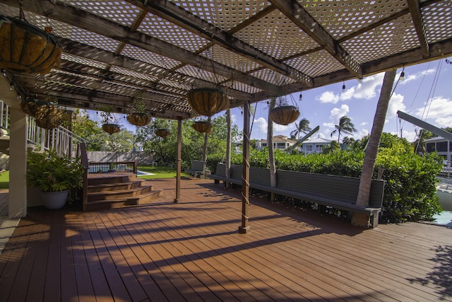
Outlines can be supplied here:
[[160, 16], [167, 21], [179, 25], [192, 33], [196, 33], [197, 35], [200, 35], [215, 44], [221, 45], [227, 50], [231, 50], [232, 52], [246, 57], [247, 59], [266, 66], [268, 69], [284, 74], [285, 76], [295, 79], [295, 81], [304, 83], [307, 86], [312, 86], [312, 79], [307, 74], [304, 74], [301, 71], [278, 61], [270, 55], [261, 52], [255, 47], [252, 47], [251, 45], [237, 39], [237, 37], [225, 33], [219, 28], [216, 28], [214, 25], [203, 21], [201, 18], [198, 18], [192, 13], [184, 10], [184, 8], [181, 8], [170, 1], [153, 0], [145, 1], [145, 4], [143, 4], [143, 1], [139, 0], [127, 1], [155, 14], [156, 16]]

